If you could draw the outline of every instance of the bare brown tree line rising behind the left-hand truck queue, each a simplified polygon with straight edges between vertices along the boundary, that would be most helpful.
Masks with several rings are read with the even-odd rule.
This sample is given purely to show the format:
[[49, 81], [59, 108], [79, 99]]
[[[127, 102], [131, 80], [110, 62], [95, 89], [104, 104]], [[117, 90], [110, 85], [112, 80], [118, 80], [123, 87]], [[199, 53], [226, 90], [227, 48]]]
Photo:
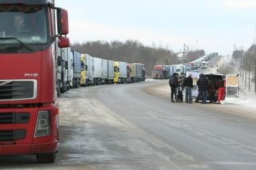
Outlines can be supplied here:
[[179, 58], [172, 50], [162, 47], [150, 47], [137, 40], [120, 42], [90, 41], [71, 44], [72, 50], [82, 54], [90, 54], [107, 60], [119, 60], [127, 63], [143, 63], [146, 75], [151, 75], [154, 65], [177, 65], [190, 62], [205, 54], [204, 50], [189, 51]]

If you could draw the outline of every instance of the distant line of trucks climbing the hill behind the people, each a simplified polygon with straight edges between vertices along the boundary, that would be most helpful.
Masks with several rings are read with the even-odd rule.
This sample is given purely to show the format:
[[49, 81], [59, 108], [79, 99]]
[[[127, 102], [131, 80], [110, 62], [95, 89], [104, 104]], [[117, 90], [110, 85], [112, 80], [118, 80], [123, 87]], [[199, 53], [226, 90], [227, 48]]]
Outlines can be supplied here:
[[[155, 65], [152, 73], [153, 79], [169, 79], [173, 73], [187, 73], [199, 69], [199, 67], [206, 67], [206, 61], [218, 56], [218, 52], [213, 52], [205, 56], [201, 56], [197, 60], [193, 60], [189, 63], [183, 63], [180, 65]], [[203, 69], [202, 68], [202, 69]]]

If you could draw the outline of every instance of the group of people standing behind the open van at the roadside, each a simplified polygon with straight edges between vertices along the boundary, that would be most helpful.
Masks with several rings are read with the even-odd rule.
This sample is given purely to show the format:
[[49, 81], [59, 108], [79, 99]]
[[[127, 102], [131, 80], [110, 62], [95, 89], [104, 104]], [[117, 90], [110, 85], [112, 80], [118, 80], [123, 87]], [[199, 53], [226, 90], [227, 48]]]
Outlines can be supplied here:
[[[206, 103], [208, 95], [210, 103], [213, 103], [216, 88], [214, 87], [212, 81], [205, 77], [205, 75], [200, 74], [196, 84], [199, 90], [198, 97], [201, 97], [202, 104]], [[189, 74], [189, 76], [185, 78], [184, 73], [181, 73], [180, 76], [177, 73], [174, 73], [170, 77], [169, 85], [171, 91], [170, 99], [172, 102], [183, 102], [183, 91], [185, 90], [185, 102], [192, 103], [191, 94], [193, 89], [193, 78], [191, 74]], [[225, 82], [222, 80], [217, 81], [216, 87], [218, 87], [217, 103], [221, 103], [220, 101], [223, 101], [225, 96]]]

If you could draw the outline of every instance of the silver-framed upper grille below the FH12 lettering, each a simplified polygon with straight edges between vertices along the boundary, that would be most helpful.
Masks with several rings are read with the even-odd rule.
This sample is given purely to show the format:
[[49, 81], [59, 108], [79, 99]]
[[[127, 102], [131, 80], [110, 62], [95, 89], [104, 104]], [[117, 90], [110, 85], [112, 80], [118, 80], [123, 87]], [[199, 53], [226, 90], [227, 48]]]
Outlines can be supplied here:
[[34, 99], [34, 81], [0, 81], [0, 101]]

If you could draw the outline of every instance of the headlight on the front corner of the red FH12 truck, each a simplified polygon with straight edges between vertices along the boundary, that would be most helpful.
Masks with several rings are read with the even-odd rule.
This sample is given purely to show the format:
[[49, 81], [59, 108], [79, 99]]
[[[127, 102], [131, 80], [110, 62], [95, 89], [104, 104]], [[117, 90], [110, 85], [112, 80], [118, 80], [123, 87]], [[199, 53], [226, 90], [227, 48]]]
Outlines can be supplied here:
[[50, 134], [50, 112], [38, 112], [35, 136], [46, 136]]

